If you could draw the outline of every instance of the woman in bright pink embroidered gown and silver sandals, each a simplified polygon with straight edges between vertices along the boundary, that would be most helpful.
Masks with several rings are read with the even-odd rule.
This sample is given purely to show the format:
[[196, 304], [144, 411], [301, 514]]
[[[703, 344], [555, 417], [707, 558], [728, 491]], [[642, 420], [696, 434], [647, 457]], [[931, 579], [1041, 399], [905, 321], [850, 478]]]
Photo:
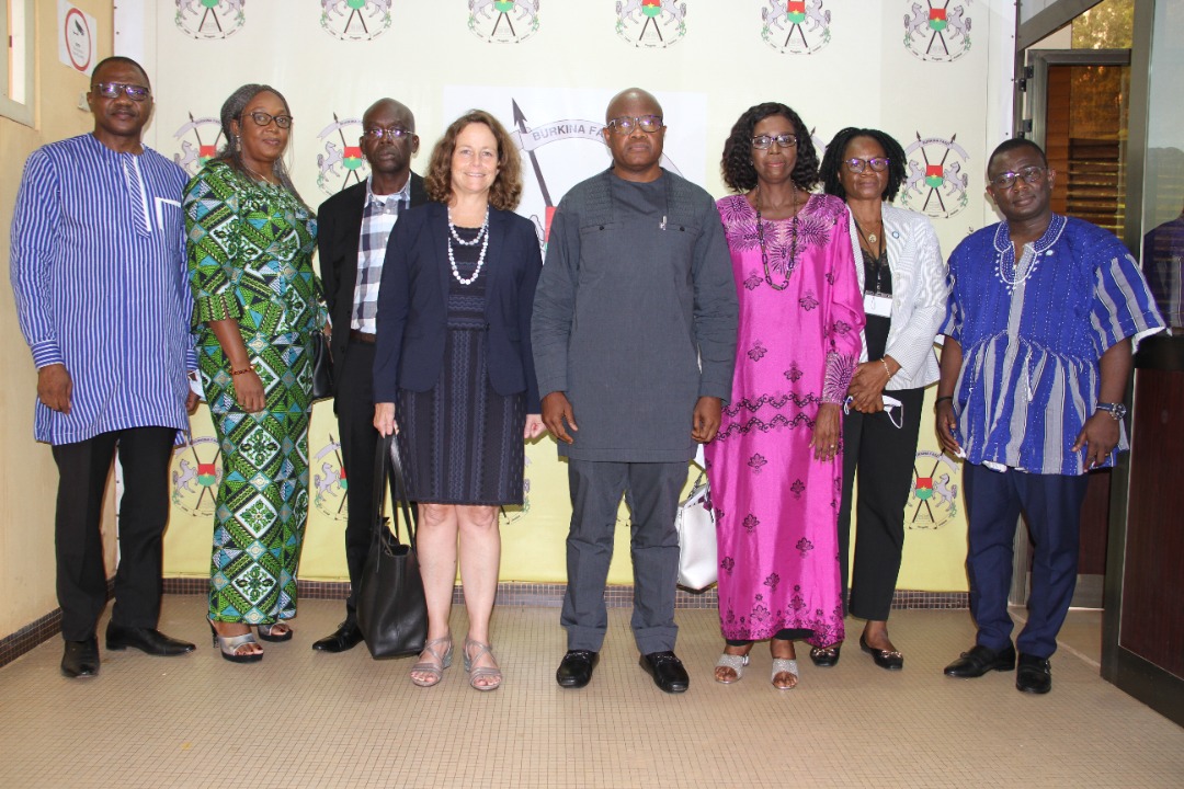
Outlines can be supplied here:
[[772, 683], [797, 685], [793, 641], [843, 640], [837, 520], [842, 408], [863, 305], [847, 206], [811, 194], [818, 156], [784, 104], [751, 108], [723, 147], [719, 201], [740, 326], [732, 402], [707, 446], [720, 557], [715, 668], [734, 683], [770, 639]]

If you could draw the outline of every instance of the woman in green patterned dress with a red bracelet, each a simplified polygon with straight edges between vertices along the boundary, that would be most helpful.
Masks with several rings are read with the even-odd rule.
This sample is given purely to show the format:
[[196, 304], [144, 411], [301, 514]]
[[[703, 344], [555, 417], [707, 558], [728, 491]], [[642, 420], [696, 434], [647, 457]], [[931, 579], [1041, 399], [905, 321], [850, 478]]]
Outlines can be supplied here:
[[282, 156], [288, 102], [243, 85], [221, 109], [227, 143], [186, 188], [198, 367], [223, 454], [210, 627], [233, 662], [287, 641], [308, 516], [311, 339], [324, 325], [316, 219]]

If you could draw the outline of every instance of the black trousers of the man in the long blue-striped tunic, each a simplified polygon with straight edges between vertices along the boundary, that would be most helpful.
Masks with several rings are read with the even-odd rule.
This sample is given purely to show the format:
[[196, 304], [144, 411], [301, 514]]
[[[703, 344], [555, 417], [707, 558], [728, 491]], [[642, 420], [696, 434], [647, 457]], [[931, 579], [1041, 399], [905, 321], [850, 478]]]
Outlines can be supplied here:
[[63, 639], [82, 641], [95, 635], [107, 606], [101, 523], [103, 491], [116, 450], [123, 467], [123, 496], [111, 621], [123, 627], [156, 627], [161, 543], [169, 512], [168, 464], [175, 436], [170, 427], [136, 427], [53, 447], [59, 477], [54, 541]]

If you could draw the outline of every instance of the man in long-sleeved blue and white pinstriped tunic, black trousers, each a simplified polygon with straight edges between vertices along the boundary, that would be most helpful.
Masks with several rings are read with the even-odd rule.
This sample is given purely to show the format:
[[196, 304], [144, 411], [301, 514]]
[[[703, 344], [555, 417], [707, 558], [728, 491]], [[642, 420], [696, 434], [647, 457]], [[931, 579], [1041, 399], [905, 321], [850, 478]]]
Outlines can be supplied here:
[[185, 263], [185, 172], [141, 144], [153, 101], [143, 69], [99, 63], [91, 134], [28, 157], [12, 222], [12, 286], [37, 366], [33, 434], [59, 481], [57, 590], [66, 677], [98, 673], [107, 606], [99, 522], [118, 451], [120, 567], [107, 648], [174, 655], [193, 645], [156, 629], [168, 466], [197, 368]]

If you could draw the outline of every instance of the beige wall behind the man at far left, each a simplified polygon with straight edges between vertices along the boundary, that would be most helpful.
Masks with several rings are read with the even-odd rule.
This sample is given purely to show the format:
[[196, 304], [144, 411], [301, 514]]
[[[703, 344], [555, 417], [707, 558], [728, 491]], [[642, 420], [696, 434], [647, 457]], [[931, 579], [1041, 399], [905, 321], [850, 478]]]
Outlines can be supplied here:
[[[111, 2], [73, 0], [98, 22], [98, 57], [111, 53]], [[40, 145], [89, 131], [94, 124], [79, 111], [79, 95], [89, 78], [58, 60], [57, 2], [39, 0], [37, 8], [37, 83], [34, 128], [0, 118], [0, 258], [8, 271], [8, 227], [25, 159]], [[17, 325], [12, 291], [5, 278], [0, 297], [0, 638], [58, 607], [54, 594], [53, 499], [58, 473], [49, 446], [33, 441], [33, 397], [37, 373]], [[109, 510], [111, 506], [109, 505]], [[107, 518], [108, 530], [112, 518]]]

